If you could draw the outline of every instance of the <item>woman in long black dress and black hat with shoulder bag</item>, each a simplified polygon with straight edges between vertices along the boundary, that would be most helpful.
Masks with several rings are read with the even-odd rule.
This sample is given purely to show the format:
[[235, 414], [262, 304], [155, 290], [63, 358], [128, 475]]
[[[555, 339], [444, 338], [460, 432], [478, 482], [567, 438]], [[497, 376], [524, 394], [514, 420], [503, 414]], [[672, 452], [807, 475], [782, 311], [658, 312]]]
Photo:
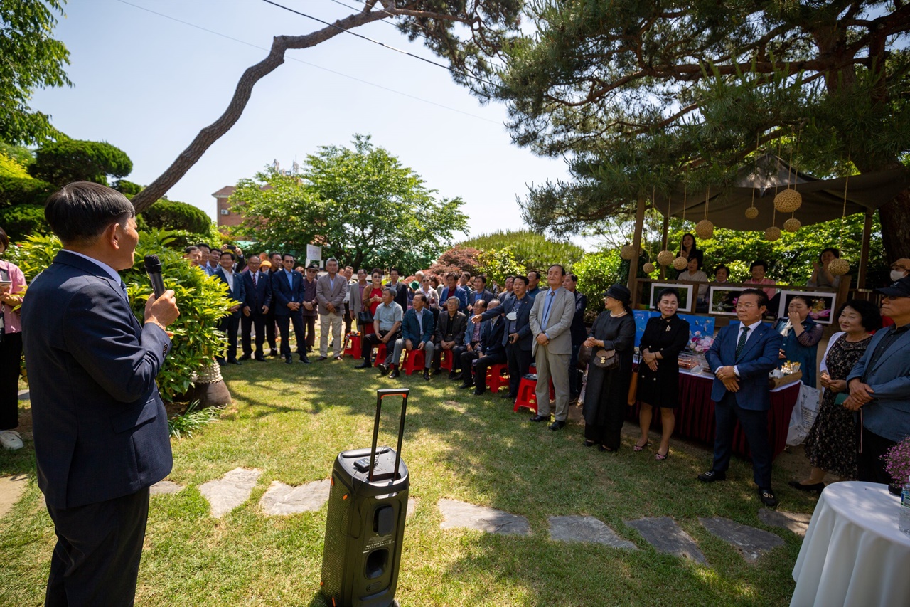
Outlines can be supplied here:
[[584, 342], [595, 353], [601, 349], [615, 350], [620, 361], [615, 369], [588, 365], [588, 383], [581, 408], [585, 447], [599, 445], [602, 451], [620, 448], [635, 348], [635, 321], [629, 308], [630, 301], [632, 293], [621, 284], [614, 284], [603, 293], [606, 310], [594, 321], [591, 334]]

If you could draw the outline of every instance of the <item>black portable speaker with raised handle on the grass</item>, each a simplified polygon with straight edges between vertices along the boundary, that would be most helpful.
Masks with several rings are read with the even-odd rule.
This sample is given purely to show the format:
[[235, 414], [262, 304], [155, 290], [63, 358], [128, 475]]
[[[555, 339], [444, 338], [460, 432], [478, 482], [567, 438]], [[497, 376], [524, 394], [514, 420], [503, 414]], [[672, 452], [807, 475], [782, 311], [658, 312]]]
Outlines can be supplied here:
[[[342, 451], [332, 467], [322, 552], [322, 594], [332, 607], [398, 605], [401, 542], [408, 513], [408, 467], [401, 440], [409, 388], [377, 390], [371, 448]], [[401, 396], [398, 448], [377, 449], [382, 399]]]

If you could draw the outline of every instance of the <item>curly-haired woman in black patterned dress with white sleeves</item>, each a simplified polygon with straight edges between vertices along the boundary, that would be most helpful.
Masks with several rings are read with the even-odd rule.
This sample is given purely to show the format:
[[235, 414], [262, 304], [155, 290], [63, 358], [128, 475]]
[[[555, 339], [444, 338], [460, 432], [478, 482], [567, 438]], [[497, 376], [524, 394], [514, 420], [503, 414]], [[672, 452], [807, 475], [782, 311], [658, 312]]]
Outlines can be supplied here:
[[882, 327], [878, 308], [864, 300], [850, 300], [841, 307], [837, 322], [844, 333], [834, 334], [822, 358], [824, 395], [809, 437], [805, 456], [812, 464], [809, 477], [791, 480], [790, 486], [802, 491], [824, 489], [824, 475], [836, 474], [841, 480], [856, 478], [856, 436], [854, 412], [837, 404], [837, 396], [846, 393], [847, 375], [863, 357], [872, 342], [872, 332]]

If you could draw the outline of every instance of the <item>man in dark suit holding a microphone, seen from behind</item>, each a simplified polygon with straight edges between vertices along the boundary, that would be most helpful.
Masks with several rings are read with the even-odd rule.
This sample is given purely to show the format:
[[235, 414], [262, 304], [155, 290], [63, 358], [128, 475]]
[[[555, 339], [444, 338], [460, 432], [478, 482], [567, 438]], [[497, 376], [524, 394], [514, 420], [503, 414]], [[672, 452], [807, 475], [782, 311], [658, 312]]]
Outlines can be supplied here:
[[155, 377], [177, 319], [174, 292], [150, 295], [139, 324], [117, 271], [132, 267], [132, 203], [76, 181], [45, 219], [64, 249], [22, 306], [38, 488], [57, 536], [47, 605], [131, 605], [148, 488], [172, 465]]

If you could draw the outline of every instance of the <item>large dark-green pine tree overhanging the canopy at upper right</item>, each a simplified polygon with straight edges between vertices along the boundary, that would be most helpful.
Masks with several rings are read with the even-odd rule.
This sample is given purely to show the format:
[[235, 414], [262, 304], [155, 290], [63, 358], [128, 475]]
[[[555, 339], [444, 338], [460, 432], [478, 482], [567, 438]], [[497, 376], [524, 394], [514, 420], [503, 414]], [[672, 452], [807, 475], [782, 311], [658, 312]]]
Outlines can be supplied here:
[[[572, 233], [652, 188], [729, 184], [754, 150], [824, 177], [901, 167], [910, 149], [910, 4], [573, 2], [526, 5], [533, 26], [471, 86], [507, 102], [513, 139], [570, 159], [572, 180], [524, 202]], [[887, 256], [910, 256], [910, 191], [880, 210]]]

